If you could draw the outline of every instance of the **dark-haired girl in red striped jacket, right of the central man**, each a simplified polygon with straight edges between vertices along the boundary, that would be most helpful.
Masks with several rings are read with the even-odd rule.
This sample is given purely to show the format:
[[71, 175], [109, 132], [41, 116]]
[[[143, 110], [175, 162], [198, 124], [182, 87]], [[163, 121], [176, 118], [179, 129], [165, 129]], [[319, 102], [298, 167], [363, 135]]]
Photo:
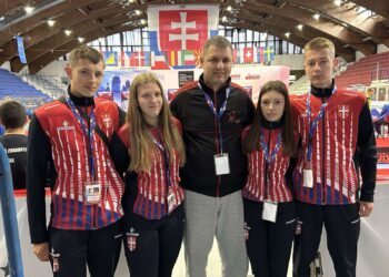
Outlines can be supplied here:
[[[267, 82], [243, 134], [249, 177], [242, 189], [246, 246], [256, 277], [285, 277], [296, 230], [291, 173], [296, 155], [288, 89]], [[296, 158], [295, 158], [296, 160]]]

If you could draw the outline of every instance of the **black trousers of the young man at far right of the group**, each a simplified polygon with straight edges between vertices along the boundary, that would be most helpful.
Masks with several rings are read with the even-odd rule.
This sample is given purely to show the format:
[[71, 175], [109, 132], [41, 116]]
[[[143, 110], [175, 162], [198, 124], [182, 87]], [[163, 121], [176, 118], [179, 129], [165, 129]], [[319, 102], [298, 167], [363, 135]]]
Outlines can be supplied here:
[[309, 277], [310, 263], [320, 245], [322, 226], [327, 232], [327, 247], [338, 277], [355, 277], [357, 245], [360, 232], [359, 207], [349, 205], [312, 205], [297, 202], [301, 234], [296, 236], [293, 276]]

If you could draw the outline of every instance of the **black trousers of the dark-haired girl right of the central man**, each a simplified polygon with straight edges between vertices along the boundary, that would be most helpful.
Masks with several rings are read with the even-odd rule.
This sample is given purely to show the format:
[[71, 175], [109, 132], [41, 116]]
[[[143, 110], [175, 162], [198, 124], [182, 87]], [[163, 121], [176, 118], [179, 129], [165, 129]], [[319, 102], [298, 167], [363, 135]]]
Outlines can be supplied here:
[[293, 202], [279, 203], [277, 220], [262, 219], [263, 203], [243, 199], [247, 252], [257, 277], [286, 277], [296, 230]]

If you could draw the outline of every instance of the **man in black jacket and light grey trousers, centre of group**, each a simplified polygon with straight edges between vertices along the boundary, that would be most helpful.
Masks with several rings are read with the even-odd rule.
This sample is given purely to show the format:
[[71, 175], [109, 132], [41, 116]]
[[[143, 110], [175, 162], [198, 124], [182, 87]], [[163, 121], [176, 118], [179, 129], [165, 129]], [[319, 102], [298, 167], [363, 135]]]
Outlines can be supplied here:
[[216, 236], [223, 277], [247, 276], [241, 188], [247, 161], [241, 131], [251, 123], [255, 107], [245, 90], [232, 83], [231, 43], [210, 38], [200, 59], [200, 80], [177, 92], [170, 103], [183, 127], [187, 163], [186, 258], [190, 277], [205, 277], [208, 254]]

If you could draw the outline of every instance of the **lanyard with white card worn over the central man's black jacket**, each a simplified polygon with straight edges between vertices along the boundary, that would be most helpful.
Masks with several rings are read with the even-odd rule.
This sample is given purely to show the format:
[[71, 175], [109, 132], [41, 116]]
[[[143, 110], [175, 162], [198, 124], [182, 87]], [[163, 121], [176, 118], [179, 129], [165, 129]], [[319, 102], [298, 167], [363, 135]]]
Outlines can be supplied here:
[[213, 104], [213, 101], [211, 98], [206, 93], [206, 91], [202, 89], [201, 84], [199, 83], [199, 88], [202, 90], [207, 104], [211, 112], [213, 113], [215, 117], [218, 121], [218, 140], [219, 140], [219, 145], [220, 145], [220, 153], [213, 155], [213, 161], [215, 161], [215, 171], [216, 175], [225, 175], [225, 174], [230, 174], [230, 161], [228, 157], [228, 153], [223, 153], [223, 137], [222, 137], [222, 132], [221, 132], [221, 116], [223, 115], [226, 109], [227, 109], [227, 100], [231, 93], [231, 88], [228, 86], [226, 89], [226, 100], [222, 103], [219, 112], [217, 111], [217, 107]]

